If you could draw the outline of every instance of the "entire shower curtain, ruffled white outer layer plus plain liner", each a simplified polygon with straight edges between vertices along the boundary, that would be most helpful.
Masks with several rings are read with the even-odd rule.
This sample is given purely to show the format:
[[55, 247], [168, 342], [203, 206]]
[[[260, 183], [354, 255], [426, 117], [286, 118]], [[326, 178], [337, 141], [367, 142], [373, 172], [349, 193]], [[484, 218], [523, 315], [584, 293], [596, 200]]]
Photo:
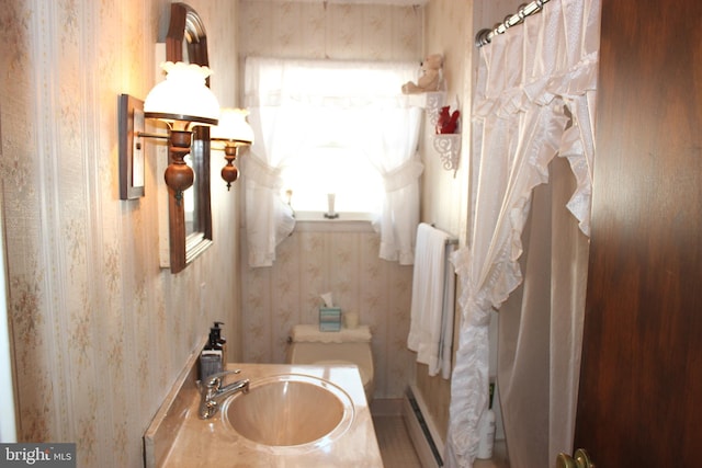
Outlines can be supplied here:
[[[510, 303], [517, 310], [500, 310], [503, 336], [498, 340], [503, 346], [498, 351], [499, 378], [507, 387], [500, 399], [503, 413], [510, 411], [503, 414], [510, 464], [553, 466], [547, 461], [555, 457], [553, 450], [571, 448], [595, 155], [599, 4], [552, 0], [480, 48], [472, 115], [471, 232], [453, 258], [462, 320], [444, 454], [449, 467], [472, 467], [475, 460], [488, 400], [490, 311], [499, 310], [522, 281], [524, 287], [510, 299], [522, 299], [518, 307]], [[532, 192], [548, 182], [555, 157], [567, 161], [569, 171], [556, 175], [558, 190], [545, 203], [535, 203], [530, 218]], [[574, 189], [563, 208], [574, 217], [570, 226], [557, 209], [561, 179]], [[531, 229], [525, 232], [528, 220]], [[573, 226], [580, 233], [573, 233]], [[510, 313], [512, 322], [502, 327], [502, 315]], [[521, 367], [551, 356], [537, 378]], [[524, 383], [529, 392], [512, 390]], [[518, 443], [532, 433], [536, 436], [529, 444]], [[510, 436], [522, 452], [512, 450]]]

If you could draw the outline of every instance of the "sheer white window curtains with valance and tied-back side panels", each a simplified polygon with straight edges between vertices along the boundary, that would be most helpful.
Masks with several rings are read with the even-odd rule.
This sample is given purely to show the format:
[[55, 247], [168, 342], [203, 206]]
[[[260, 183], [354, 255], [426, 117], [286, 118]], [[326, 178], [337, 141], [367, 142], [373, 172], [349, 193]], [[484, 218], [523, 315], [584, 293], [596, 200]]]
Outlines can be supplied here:
[[[381, 173], [385, 199], [374, 221], [380, 256], [412, 264], [422, 111], [410, 106], [401, 84], [417, 72], [412, 62], [247, 58], [246, 105], [256, 135], [241, 159], [250, 266], [272, 265], [275, 247], [294, 229], [292, 209], [280, 197], [286, 160], [330, 142], [355, 148]], [[339, 113], [344, 122], [355, 115], [353, 126], [335, 125]]]

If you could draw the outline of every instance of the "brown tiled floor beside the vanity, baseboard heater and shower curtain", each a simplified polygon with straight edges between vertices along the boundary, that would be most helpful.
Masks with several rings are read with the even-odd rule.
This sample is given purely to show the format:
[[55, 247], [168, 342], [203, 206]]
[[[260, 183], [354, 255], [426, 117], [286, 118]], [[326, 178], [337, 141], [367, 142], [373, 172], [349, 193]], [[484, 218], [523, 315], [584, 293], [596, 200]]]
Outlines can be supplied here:
[[[385, 468], [421, 468], [401, 416], [373, 416]], [[476, 460], [474, 468], [509, 468], [505, 443], [496, 443], [492, 459]]]

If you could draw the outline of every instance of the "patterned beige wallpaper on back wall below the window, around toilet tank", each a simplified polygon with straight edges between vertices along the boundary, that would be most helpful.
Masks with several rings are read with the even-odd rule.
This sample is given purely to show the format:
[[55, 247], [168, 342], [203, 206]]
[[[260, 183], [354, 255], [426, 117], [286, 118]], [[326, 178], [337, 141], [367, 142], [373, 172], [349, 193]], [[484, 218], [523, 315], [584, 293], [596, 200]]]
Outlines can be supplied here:
[[245, 361], [285, 362], [292, 327], [317, 323], [319, 295], [331, 292], [335, 306], [356, 311], [371, 327], [375, 396], [401, 397], [414, 367], [407, 351], [411, 266], [378, 259], [380, 238], [367, 226], [329, 231], [306, 225], [279, 246], [272, 267], [242, 266]]

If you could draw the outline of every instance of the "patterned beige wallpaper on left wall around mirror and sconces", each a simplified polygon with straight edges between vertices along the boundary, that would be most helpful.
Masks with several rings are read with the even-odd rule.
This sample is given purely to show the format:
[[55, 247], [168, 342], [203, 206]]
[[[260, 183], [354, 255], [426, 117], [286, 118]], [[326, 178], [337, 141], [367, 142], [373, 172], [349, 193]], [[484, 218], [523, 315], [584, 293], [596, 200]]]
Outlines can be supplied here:
[[[229, 0], [193, 0], [213, 89], [235, 104]], [[156, 160], [146, 196], [117, 186], [117, 94], [154, 84], [165, 0], [9, 0], [0, 9], [0, 117], [19, 441], [76, 442], [79, 467], [139, 467], [141, 436], [189, 354], [222, 319], [239, 329], [237, 191], [217, 185], [214, 246], [159, 269]], [[212, 274], [217, 272], [217, 274]]]

